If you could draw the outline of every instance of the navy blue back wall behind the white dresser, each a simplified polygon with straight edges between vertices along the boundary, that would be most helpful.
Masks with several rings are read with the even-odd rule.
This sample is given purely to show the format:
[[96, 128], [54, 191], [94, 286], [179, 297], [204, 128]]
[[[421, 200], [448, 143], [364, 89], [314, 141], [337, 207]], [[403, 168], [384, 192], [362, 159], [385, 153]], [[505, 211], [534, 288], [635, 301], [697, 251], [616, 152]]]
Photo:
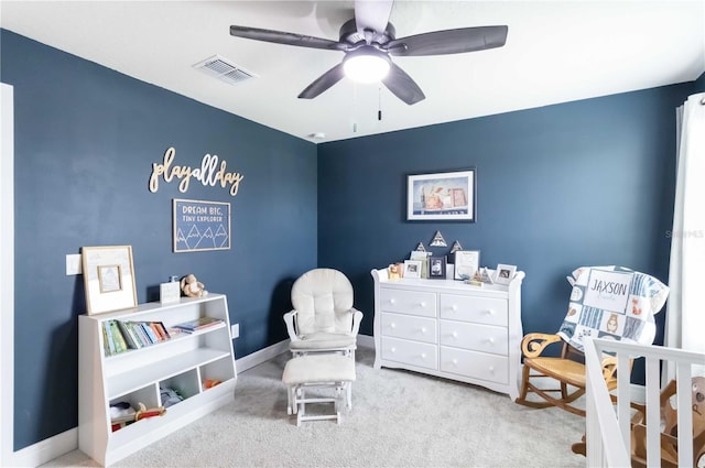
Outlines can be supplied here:
[[[354, 281], [372, 334], [371, 268], [426, 249], [436, 230], [480, 263], [527, 272], [524, 331], [557, 330], [587, 264], [621, 264], [668, 282], [675, 108], [669, 86], [321, 144], [318, 263]], [[405, 221], [406, 175], [477, 168], [477, 222]], [[659, 315], [663, 322], [664, 314]], [[661, 342], [661, 336], [657, 340]]]

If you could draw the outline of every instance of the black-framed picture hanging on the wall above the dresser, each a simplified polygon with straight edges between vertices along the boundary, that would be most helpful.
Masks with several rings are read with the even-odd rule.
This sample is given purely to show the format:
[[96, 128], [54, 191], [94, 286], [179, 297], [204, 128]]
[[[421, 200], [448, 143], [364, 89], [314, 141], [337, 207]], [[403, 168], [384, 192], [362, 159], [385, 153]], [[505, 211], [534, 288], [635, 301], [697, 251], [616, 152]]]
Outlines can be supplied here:
[[406, 177], [408, 221], [470, 221], [476, 218], [476, 170]]

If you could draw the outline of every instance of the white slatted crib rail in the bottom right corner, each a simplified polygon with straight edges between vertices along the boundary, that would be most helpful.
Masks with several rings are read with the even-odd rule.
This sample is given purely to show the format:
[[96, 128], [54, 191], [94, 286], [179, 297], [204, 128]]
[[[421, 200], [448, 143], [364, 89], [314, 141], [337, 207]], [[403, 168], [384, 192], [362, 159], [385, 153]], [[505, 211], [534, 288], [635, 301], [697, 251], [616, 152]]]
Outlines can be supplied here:
[[[661, 346], [640, 346], [605, 339], [586, 340], [586, 442], [588, 467], [631, 466], [631, 385], [628, 372], [618, 372], [617, 404], [609, 398], [600, 356], [616, 353], [618, 369], [629, 369], [629, 360], [646, 359], [647, 464], [661, 467], [661, 385], [662, 361], [676, 366], [679, 466], [693, 465], [692, 384], [693, 366], [702, 366], [705, 355]], [[684, 383], [684, 384], [683, 384]], [[643, 403], [640, 402], [640, 403]]]

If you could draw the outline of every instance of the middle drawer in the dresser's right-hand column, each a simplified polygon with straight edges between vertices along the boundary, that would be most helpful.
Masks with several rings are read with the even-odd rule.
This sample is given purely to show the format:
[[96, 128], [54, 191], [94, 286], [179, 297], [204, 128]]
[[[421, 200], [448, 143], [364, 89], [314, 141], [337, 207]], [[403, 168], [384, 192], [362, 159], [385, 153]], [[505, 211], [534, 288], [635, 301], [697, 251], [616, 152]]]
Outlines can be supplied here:
[[441, 320], [441, 345], [507, 356], [507, 328], [467, 322]]

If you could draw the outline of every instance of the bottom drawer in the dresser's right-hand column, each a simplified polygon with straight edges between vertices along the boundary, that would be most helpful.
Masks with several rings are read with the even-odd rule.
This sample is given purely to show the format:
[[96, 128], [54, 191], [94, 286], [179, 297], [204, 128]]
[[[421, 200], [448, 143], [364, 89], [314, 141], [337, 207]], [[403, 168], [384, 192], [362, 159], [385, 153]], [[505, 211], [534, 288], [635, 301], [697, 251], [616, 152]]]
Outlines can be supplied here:
[[441, 370], [490, 382], [509, 383], [507, 357], [441, 347]]

